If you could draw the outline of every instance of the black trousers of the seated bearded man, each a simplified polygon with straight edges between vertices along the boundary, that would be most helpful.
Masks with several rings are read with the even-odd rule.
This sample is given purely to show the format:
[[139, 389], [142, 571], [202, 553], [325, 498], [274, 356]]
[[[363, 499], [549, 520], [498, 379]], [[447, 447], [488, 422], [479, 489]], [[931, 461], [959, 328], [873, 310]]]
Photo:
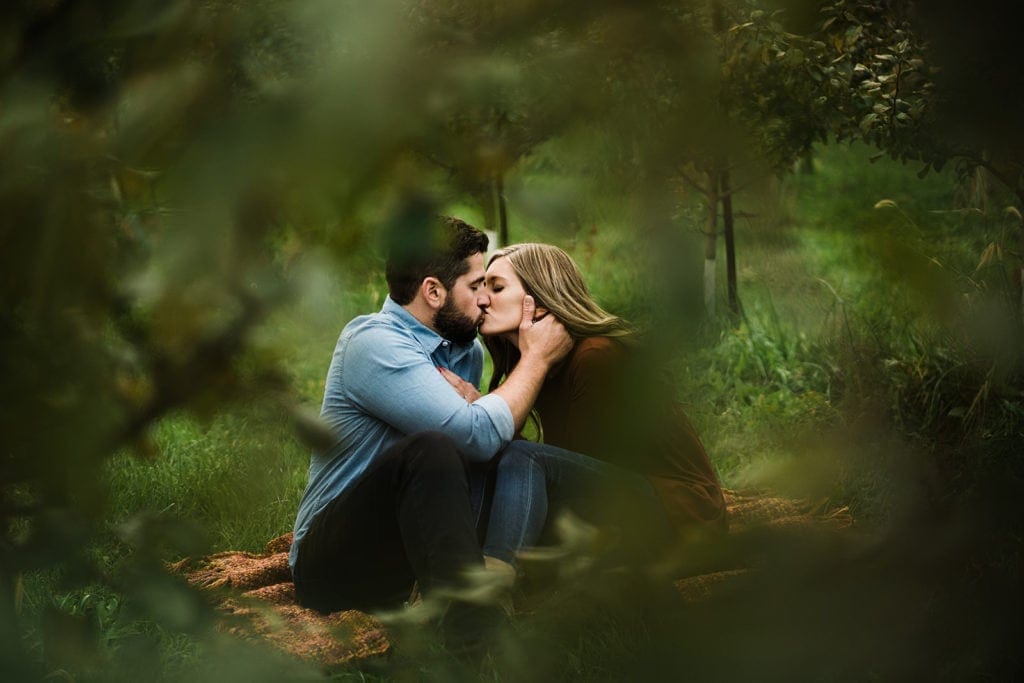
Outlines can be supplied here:
[[299, 547], [299, 602], [323, 612], [400, 605], [483, 562], [466, 465], [452, 439], [413, 434], [313, 521]]

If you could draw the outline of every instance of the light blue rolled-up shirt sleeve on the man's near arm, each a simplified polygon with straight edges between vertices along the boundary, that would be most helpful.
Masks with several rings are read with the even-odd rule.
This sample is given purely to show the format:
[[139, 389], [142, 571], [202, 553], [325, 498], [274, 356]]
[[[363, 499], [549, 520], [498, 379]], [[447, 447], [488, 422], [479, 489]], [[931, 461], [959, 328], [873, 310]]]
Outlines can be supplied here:
[[501, 396], [467, 403], [419, 342], [401, 331], [372, 326], [356, 332], [341, 371], [353, 402], [402, 433], [440, 431], [465, 456], [479, 461], [512, 439], [512, 412]]

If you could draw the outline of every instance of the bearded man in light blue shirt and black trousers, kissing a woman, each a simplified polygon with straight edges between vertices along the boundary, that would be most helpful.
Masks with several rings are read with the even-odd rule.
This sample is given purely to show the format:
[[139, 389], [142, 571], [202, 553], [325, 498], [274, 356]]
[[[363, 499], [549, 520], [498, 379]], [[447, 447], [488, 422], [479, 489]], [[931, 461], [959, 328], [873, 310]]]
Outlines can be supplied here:
[[290, 556], [299, 601], [321, 611], [394, 606], [416, 580], [428, 594], [482, 565], [466, 460], [509, 443], [571, 346], [530, 299], [515, 372], [472, 402], [454, 391], [439, 370], [472, 386], [482, 373], [487, 238], [455, 218], [436, 228], [391, 250], [383, 308], [345, 327], [328, 372], [321, 416], [338, 440], [312, 455]]

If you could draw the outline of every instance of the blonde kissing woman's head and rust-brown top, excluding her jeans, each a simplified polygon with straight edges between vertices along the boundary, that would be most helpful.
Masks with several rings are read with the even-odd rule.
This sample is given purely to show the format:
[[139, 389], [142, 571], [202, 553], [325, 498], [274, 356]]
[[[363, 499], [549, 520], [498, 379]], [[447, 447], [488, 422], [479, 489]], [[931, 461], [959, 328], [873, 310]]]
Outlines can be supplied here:
[[575, 340], [535, 404], [544, 442], [643, 475], [680, 533], [725, 530], [721, 483], [700, 439], [671, 391], [653, 390], [663, 382], [632, 330], [594, 301], [572, 259], [550, 245], [506, 247], [490, 258], [485, 287], [490, 389], [519, 358], [520, 311], [531, 296], [538, 316], [555, 315]]

